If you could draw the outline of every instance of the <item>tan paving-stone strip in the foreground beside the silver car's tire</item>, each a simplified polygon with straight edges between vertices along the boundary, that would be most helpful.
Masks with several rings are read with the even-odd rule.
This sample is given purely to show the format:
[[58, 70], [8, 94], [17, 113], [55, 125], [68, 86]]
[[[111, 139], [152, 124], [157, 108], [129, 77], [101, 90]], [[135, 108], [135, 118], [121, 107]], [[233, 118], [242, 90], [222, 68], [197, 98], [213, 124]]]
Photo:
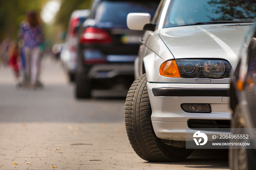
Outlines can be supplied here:
[[182, 162], [146, 162], [133, 151], [122, 122], [0, 123], [0, 170], [33, 169], [210, 170], [228, 167], [227, 160], [199, 158], [196, 154]]

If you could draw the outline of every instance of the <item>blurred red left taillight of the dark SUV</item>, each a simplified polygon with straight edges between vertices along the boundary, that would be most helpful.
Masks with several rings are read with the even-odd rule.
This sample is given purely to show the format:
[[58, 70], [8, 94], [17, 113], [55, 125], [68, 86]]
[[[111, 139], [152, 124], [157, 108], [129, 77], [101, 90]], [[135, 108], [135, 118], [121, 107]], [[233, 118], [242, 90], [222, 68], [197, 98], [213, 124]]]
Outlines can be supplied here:
[[111, 43], [109, 33], [101, 28], [88, 27], [84, 30], [79, 39], [80, 43]]

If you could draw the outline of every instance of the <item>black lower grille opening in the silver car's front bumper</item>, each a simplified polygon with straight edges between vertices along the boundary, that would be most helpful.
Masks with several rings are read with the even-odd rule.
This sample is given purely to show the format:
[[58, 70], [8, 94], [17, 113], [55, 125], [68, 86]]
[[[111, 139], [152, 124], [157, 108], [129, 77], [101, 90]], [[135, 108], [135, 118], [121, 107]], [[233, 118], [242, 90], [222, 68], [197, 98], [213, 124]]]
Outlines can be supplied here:
[[188, 128], [193, 130], [207, 130], [209, 131], [230, 131], [230, 120], [203, 120], [190, 119], [188, 120]]

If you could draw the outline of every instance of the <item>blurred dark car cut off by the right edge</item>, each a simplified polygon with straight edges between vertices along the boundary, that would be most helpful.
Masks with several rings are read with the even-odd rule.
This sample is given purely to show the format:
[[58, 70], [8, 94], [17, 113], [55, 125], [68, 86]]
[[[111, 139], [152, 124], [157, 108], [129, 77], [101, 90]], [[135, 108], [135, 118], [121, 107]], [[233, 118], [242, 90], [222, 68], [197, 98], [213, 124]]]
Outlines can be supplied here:
[[[233, 110], [231, 127], [233, 134], [247, 134], [250, 148], [231, 146], [229, 164], [232, 170], [255, 169], [256, 160], [256, 26], [247, 35], [239, 61], [231, 77], [230, 107]], [[241, 142], [244, 139], [231, 139]]]

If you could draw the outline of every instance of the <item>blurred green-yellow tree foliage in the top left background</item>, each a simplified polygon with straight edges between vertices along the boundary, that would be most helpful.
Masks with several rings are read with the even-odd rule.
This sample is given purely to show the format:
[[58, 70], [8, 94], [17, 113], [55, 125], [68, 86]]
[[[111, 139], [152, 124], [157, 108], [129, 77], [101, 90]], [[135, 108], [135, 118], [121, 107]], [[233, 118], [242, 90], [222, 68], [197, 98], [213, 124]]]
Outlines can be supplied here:
[[[71, 13], [76, 9], [87, 9], [91, 0], [0, 0], [0, 42], [5, 38], [17, 39], [19, 24], [29, 10], [39, 14], [50, 1], [60, 3], [53, 22], [44, 23], [44, 32], [48, 43], [64, 41]], [[55, 15], [55, 14], [54, 14]]]

